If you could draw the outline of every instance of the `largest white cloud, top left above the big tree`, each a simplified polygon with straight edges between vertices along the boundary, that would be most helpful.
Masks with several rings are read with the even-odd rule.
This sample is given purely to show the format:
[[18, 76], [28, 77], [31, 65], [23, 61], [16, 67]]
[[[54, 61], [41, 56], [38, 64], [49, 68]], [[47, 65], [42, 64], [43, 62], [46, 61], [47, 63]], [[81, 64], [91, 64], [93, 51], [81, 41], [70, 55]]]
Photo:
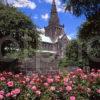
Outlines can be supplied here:
[[12, 4], [14, 7], [28, 7], [30, 9], [35, 9], [36, 4], [30, 0], [8, 0], [9, 4]]

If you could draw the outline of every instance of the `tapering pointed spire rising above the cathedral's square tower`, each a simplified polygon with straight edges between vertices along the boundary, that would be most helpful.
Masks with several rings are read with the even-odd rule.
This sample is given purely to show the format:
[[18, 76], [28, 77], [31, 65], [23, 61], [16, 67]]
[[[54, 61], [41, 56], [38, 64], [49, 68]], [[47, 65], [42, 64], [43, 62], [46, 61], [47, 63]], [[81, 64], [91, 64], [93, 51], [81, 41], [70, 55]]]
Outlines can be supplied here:
[[50, 15], [50, 20], [49, 20], [49, 25], [59, 25], [59, 18], [58, 18], [58, 13], [57, 13], [57, 8], [56, 8], [56, 2], [55, 0], [52, 1], [52, 8], [51, 8], [51, 15]]

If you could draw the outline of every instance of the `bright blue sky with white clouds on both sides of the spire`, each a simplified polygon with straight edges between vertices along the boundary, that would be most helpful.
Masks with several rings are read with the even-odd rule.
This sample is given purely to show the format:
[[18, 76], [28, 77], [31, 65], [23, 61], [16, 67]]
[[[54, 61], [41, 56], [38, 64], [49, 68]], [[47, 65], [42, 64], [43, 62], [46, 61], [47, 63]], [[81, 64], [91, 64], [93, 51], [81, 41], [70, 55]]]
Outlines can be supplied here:
[[[48, 25], [52, 0], [8, 0], [13, 6], [18, 7], [23, 13], [29, 16], [32, 21], [43, 30]], [[79, 26], [85, 21], [85, 17], [76, 17], [64, 11], [60, 0], [56, 0], [60, 23], [65, 26], [65, 33], [68, 37], [75, 38]]]

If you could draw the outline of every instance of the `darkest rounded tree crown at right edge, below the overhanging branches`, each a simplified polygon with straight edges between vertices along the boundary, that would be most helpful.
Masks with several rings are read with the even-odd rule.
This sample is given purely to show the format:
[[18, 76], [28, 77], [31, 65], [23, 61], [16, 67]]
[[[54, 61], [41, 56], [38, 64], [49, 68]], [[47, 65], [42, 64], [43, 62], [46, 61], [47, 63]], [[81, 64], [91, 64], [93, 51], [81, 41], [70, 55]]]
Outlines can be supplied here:
[[78, 37], [83, 41], [100, 37], [100, 12], [89, 17], [87, 21], [81, 25]]

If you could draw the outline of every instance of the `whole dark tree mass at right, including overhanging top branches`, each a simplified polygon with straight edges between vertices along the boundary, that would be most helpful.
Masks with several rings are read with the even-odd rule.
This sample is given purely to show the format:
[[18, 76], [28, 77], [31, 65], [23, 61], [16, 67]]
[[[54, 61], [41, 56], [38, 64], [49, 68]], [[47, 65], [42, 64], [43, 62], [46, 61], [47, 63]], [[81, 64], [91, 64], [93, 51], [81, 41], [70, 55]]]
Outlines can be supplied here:
[[66, 10], [74, 15], [85, 15], [86, 22], [81, 25], [78, 32], [78, 39], [82, 43], [82, 57], [89, 62], [89, 66], [95, 68], [100, 66], [100, 61], [97, 64], [95, 59], [95, 57], [100, 58], [98, 39], [100, 38], [100, 0], [64, 0], [64, 2], [66, 2]]

